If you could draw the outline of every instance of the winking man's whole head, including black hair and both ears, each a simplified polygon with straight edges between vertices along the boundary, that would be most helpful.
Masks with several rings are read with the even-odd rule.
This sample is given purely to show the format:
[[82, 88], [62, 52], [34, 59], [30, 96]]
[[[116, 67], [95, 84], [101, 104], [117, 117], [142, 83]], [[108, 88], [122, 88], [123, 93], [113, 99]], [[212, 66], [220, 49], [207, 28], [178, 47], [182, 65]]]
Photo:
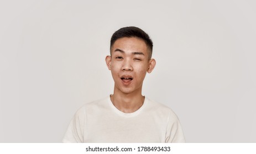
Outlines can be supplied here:
[[124, 27], [111, 38], [111, 56], [106, 64], [114, 79], [114, 93], [141, 94], [147, 73], [155, 67], [152, 41], [137, 27]]

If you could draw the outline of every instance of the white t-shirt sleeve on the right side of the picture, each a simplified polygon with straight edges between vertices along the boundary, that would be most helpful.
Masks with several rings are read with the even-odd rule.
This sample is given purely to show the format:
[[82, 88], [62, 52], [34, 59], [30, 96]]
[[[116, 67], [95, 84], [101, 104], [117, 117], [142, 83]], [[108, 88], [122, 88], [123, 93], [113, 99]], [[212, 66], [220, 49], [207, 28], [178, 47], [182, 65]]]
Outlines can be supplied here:
[[179, 118], [176, 114], [171, 111], [168, 118], [168, 125], [166, 128], [166, 138], [167, 143], [184, 143], [185, 138], [180, 125]]

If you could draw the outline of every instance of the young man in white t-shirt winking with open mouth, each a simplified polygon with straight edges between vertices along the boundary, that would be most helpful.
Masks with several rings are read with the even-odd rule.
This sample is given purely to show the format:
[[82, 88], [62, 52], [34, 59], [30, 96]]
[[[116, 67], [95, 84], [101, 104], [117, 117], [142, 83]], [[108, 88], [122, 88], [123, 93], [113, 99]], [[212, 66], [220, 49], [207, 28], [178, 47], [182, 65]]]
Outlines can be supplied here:
[[106, 64], [114, 93], [82, 106], [63, 142], [185, 142], [170, 108], [142, 96], [145, 75], [155, 67], [153, 42], [138, 27], [123, 27], [111, 38]]

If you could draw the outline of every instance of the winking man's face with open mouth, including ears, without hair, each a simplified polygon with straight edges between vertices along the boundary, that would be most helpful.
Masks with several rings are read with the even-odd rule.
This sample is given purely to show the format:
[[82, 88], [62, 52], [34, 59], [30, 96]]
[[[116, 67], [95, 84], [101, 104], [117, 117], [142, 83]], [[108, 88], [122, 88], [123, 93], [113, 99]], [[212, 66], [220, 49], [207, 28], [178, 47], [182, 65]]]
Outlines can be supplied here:
[[106, 57], [106, 63], [114, 79], [114, 91], [124, 94], [141, 94], [145, 75], [155, 66], [154, 59], [149, 59], [145, 42], [135, 37], [116, 40], [111, 48], [111, 57]]

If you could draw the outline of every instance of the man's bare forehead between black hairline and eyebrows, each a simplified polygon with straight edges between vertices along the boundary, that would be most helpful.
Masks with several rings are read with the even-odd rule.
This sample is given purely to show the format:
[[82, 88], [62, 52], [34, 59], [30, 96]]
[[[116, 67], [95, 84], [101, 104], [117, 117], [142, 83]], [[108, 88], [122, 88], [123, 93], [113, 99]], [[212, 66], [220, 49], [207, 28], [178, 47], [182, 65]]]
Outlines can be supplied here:
[[148, 47], [146, 43], [137, 37], [122, 37], [116, 40], [111, 48], [111, 52], [116, 49], [123, 50], [124, 52], [143, 52], [147, 54]]

